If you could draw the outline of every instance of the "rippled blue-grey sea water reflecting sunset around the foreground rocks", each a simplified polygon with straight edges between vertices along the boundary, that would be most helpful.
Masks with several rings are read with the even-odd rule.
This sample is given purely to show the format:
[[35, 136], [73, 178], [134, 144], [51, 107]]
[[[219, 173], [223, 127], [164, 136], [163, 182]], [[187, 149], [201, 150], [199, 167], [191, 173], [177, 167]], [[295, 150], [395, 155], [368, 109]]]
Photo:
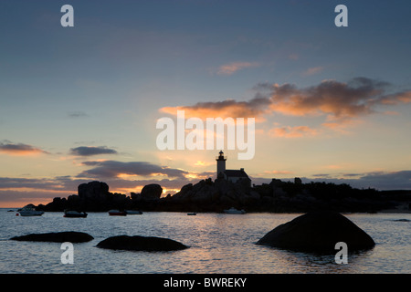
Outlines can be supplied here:
[[[344, 214], [375, 241], [372, 250], [348, 255], [312, 255], [255, 245], [279, 224], [300, 214], [144, 213], [64, 218], [62, 213], [22, 217], [0, 209], [0, 273], [31, 274], [385, 274], [411, 272], [411, 214]], [[58, 243], [16, 242], [16, 235], [85, 232], [89, 243], [74, 244], [74, 263], [62, 264]], [[97, 248], [113, 235], [171, 238], [190, 248], [174, 252], [131, 252]], [[336, 251], [337, 252], [337, 251]]]

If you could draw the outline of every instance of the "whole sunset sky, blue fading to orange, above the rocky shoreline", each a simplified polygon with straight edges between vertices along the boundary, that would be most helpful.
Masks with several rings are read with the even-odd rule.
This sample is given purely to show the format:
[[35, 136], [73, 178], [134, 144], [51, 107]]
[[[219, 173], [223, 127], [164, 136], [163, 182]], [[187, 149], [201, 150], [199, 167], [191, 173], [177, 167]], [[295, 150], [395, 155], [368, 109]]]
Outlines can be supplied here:
[[220, 149], [159, 150], [156, 123], [177, 110], [254, 118], [254, 157], [223, 149], [253, 183], [411, 189], [410, 11], [404, 0], [1, 0], [0, 207], [90, 181], [166, 195], [215, 179]]

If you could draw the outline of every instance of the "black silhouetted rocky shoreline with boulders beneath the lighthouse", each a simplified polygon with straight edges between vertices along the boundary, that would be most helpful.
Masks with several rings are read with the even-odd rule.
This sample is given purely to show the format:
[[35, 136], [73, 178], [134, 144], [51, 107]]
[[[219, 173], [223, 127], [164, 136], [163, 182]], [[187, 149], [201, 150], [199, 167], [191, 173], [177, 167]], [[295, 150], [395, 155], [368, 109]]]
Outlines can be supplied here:
[[307, 213], [316, 210], [375, 213], [411, 202], [410, 191], [376, 191], [355, 189], [348, 184], [302, 183], [273, 179], [251, 187], [248, 182], [229, 182], [211, 178], [184, 185], [180, 192], [161, 197], [159, 184], [148, 184], [142, 193], [110, 193], [107, 183], [79, 185], [79, 194], [54, 198], [37, 210], [63, 212], [107, 212], [111, 209], [173, 212], [222, 212], [235, 207], [247, 212]]

